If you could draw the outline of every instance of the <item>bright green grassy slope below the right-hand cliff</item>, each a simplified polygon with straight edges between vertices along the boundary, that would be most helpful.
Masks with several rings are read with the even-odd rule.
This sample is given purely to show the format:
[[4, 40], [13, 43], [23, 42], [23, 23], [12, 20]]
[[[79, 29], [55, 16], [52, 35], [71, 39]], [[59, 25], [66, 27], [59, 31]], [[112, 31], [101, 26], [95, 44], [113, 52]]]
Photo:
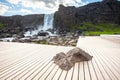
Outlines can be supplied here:
[[[120, 34], [120, 25], [117, 24], [93, 24], [85, 22], [80, 26], [75, 26], [74, 30], [84, 31], [86, 36], [98, 36], [100, 34]], [[73, 29], [72, 29], [73, 30]]]

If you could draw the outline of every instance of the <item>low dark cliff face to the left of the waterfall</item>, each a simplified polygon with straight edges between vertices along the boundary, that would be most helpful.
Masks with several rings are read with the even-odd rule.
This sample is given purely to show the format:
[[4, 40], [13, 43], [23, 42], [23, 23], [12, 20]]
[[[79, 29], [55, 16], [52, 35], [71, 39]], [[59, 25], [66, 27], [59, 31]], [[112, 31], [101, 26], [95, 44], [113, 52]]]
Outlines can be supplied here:
[[0, 24], [4, 26], [0, 28], [0, 37], [9, 37], [13, 34], [23, 34], [25, 30], [37, 27], [43, 24], [44, 15], [26, 15], [26, 16], [0, 16]]

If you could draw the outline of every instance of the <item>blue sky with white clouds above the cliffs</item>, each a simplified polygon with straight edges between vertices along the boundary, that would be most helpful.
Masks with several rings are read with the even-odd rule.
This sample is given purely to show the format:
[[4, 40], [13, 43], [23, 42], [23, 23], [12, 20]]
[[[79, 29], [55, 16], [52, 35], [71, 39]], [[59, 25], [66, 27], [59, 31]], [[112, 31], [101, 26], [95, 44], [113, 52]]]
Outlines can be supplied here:
[[64, 6], [83, 6], [102, 0], [0, 0], [0, 16], [49, 14]]

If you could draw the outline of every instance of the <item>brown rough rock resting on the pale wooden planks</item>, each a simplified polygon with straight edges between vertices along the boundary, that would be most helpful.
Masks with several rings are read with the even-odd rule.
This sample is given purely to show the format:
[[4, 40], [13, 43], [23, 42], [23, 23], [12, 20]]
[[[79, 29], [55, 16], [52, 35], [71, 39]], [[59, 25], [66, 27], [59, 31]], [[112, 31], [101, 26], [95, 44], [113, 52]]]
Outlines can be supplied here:
[[74, 48], [70, 50], [67, 54], [60, 52], [53, 57], [53, 61], [62, 70], [70, 70], [76, 62], [91, 60], [92, 56], [83, 51], [80, 48]]

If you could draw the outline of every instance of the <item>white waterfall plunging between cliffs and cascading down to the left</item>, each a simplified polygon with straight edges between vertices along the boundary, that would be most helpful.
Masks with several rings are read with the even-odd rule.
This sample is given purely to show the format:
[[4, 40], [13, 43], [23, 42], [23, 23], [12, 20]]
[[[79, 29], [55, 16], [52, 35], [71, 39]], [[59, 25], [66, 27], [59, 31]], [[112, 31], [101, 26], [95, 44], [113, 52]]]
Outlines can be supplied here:
[[35, 30], [25, 32], [24, 36], [33, 36], [37, 35], [41, 30], [46, 31], [48, 29], [53, 29], [53, 20], [54, 20], [54, 13], [45, 14], [44, 15], [44, 24], [39, 26]]

